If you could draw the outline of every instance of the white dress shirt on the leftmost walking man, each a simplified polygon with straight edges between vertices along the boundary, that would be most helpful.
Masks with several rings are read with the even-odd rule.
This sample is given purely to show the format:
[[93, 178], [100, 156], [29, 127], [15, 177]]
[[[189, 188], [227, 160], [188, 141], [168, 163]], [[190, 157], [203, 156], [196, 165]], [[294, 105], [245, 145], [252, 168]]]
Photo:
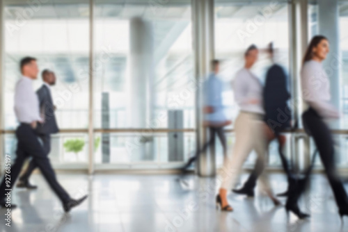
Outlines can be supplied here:
[[23, 76], [15, 88], [15, 114], [23, 123], [42, 121], [40, 117], [38, 96], [33, 90], [33, 80]]

